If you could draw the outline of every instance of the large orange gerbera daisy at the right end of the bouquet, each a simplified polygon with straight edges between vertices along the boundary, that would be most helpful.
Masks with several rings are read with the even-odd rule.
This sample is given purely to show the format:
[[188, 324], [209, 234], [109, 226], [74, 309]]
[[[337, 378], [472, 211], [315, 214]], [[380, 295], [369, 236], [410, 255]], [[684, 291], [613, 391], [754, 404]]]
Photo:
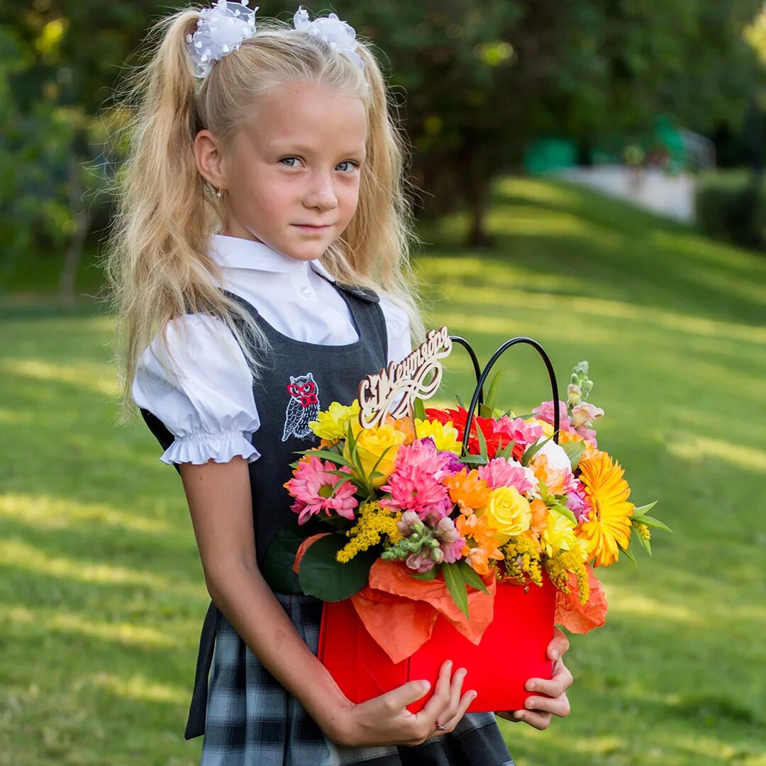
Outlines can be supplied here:
[[580, 461], [580, 480], [591, 501], [591, 519], [576, 530], [578, 537], [593, 545], [594, 566], [609, 566], [617, 561], [620, 545], [627, 548], [630, 540], [632, 502], [628, 502], [630, 486], [624, 480], [624, 469], [605, 452]]

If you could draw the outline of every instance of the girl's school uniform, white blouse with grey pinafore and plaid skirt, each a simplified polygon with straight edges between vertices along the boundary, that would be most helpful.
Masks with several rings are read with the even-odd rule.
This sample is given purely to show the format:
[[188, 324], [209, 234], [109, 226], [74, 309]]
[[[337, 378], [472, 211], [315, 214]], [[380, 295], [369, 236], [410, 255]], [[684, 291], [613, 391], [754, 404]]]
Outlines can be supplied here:
[[[347, 403], [358, 381], [411, 350], [406, 314], [385, 296], [336, 283], [318, 261], [215, 235], [221, 289], [239, 301], [270, 351], [254, 380], [223, 323], [190, 315], [171, 322], [175, 362], [156, 341], [139, 361], [133, 398], [165, 452], [165, 463], [247, 460], [260, 565], [268, 543], [293, 522], [283, 488], [296, 451], [313, 447], [308, 423], [332, 401]], [[316, 654], [322, 602], [275, 594]], [[512, 766], [492, 713], [470, 713], [449, 735], [417, 747], [344, 748], [329, 741], [211, 604], [203, 624], [186, 738], [204, 735], [201, 766]]]

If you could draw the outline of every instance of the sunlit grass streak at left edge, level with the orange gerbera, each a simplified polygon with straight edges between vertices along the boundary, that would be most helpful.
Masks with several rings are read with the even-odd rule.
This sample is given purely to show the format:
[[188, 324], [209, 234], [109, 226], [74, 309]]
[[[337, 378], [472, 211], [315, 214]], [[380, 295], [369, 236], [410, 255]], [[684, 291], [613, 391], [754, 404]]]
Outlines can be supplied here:
[[38, 529], [64, 529], [70, 525], [103, 524], [153, 535], [177, 532], [168, 522], [139, 516], [101, 503], [64, 500], [47, 495], [0, 495], [0, 516], [34, 523]]

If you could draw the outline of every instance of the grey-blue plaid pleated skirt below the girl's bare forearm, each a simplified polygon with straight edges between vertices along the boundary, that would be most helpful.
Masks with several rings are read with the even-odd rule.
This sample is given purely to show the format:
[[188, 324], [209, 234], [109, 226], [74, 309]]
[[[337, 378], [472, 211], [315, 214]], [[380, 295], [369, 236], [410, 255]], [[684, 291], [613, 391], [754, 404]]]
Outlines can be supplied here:
[[[293, 624], [316, 654], [322, 602], [276, 594]], [[513, 766], [493, 713], [467, 713], [453, 732], [405, 747], [345, 748], [329, 741], [298, 700], [250, 651], [221, 611], [211, 606], [214, 649], [203, 641], [195, 683], [196, 704], [206, 692], [204, 722], [192, 722], [187, 737], [204, 726], [201, 766]], [[214, 622], [213, 622], [214, 618]], [[211, 631], [210, 631], [211, 632]], [[208, 644], [205, 649], [205, 644]], [[203, 653], [212, 654], [209, 680]], [[209, 665], [208, 665], [209, 666]], [[200, 699], [201, 697], [201, 699]], [[199, 715], [198, 715], [199, 718]]]

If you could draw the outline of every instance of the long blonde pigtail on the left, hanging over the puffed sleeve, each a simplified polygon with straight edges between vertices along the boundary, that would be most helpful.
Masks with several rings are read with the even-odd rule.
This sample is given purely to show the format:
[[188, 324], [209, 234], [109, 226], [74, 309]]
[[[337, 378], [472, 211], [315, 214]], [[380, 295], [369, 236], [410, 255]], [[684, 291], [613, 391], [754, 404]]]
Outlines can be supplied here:
[[194, 157], [195, 135], [203, 125], [186, 38], [198, 18], [198, 11], [187, 10], [159, 21], [150, 38], [161, 38], [155, 53], [127, 83], [126, 106], [133, 112], [127, 128], [130, 149], [103, 261], [118, 315], [123, 421], [135, 410], [131, 388], [137, 360], [158, 332], [161, 362], [173, 374], [160, 332], [170, 320], [187, 313], [218, 316], [256, 375], [258, 360], [248, 352], [244, 334], [257, 348], [267, 344], [241, 306], [221, 293], [221, 270], [208, 256], [221, 211]]

